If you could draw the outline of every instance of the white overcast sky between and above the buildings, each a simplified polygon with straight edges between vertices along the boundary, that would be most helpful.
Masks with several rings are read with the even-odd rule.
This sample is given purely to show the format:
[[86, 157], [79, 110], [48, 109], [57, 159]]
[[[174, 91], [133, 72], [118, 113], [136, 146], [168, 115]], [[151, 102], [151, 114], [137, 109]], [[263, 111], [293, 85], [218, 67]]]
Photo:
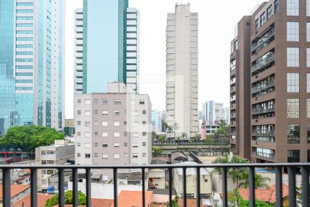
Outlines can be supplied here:
[[[102, 0], [108, 1], [108, 0]], [[115, 0], [109, 0], [115, 1]], [[229, 106], [230, 41], [236, 23], [262, 0], [130, 0], [140, 10], [141, 93], [149, 94], [152, 109], [165, 110], [165, 27], [176, 3], [191, 3], [198, 12], [199, 108], [206, 100]], [[65, 1], [65, 118], [73, 117], [74, 10], [83, 0]]]

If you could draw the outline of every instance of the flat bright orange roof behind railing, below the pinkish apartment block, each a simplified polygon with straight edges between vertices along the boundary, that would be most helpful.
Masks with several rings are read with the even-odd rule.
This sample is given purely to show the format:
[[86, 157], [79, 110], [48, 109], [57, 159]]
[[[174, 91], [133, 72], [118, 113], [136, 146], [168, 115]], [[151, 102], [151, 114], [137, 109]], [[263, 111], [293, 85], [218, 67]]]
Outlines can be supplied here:
[[[149, 206], [153, 191], [145, 191], [145, 206]], [[112, 204], [112, 207], [114, 204]], [[122, 190], [118, 195], [118, 206], [138, 207], [142, 206], [142, 191]]]

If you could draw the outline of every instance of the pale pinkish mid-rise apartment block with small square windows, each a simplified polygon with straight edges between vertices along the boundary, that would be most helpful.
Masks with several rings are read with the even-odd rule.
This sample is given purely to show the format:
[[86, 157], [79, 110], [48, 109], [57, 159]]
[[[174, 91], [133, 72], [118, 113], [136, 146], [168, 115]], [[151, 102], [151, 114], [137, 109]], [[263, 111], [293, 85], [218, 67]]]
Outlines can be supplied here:
[[76, 164], [150, 163], [152, 105], [148, 95], [130, 89], [109, 83], [105, 93], [75, 95]]

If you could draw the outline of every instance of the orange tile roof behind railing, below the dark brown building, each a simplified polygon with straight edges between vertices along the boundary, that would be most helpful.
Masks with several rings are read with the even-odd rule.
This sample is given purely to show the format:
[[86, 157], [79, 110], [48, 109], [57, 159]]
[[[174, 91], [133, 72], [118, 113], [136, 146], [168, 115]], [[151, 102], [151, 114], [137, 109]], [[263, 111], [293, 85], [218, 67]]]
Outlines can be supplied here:
[[[239, 188], [240, 196], [243, 200], [249, 200], [249, 188]], [[289, 187], [285, 184], [282, 184], [282, 198], [285, 198], [289, 195]], [[276, 202], [276, 185], [270, 186], [267, 189], [256, 189], [255, 198], [260, 201], [265, 201], [270, 204]]]

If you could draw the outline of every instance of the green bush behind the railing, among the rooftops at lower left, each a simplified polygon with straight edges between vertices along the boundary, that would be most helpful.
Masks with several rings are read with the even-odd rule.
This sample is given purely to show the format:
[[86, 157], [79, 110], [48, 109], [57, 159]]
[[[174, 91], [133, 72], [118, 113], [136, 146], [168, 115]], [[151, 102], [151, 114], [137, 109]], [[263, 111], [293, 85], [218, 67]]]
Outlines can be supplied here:
[[[53, 195], [45, 202], [45, 207], [52, 207], [57, 205], [59, 194]], [[65, 192], [65, 204], [73, 204], [73, 192], [68, 190]], [[86, 195], [79, 190], [79, 205], [86, 205]]]

